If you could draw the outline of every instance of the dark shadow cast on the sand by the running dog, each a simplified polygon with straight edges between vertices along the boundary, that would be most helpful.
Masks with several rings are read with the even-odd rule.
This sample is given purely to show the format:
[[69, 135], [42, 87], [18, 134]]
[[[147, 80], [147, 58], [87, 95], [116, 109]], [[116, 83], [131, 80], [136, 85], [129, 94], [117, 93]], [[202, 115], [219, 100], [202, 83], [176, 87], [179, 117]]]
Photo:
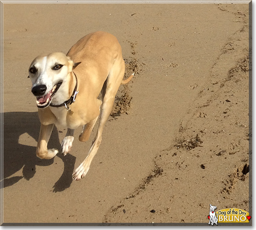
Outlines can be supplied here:
[[[36, 166], [48, 166], [54, 162], [53, 159], [42, 160], [36, 156], [35, 146], [19, 144], [19, 137], [28, 133], [36, 141], [39, 137], [40, 121], [37, 112], [9, 112], [4, 113], [4, 188], [11, 186], [24, 178], [30, 180], [36, 173]], [[61, 150], [58, 130], [54, 126], [48, 148]], [[72, 172], [76, 157], [58, 153], [64, 163], [64, 170], [59, 180], [54, 184], [53, 192], [61, 192], [69, 188], [72, 183]], [[22, 169], [23, 167], [23, 169]], [[23, 176], [12, 176], [22, 169]]]

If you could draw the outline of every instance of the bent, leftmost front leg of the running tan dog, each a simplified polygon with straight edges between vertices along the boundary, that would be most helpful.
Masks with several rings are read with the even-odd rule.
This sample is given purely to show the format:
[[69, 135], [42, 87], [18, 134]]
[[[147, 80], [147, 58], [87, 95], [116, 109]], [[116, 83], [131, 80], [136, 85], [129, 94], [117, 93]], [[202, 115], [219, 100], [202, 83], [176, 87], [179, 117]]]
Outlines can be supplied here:
[[56, 149], [48, 150], [47, 148], [47, 144], [52, 134], [53, 127], [54, 127], [54, 124], [48, 124], [48, 125], [41, 124], [39, 139], [37, 142], [37, 150], [36, 150], [37, 157], [41, 159], [51, 159], [55, 157], [55, 155], [58, 153], [58, 150]]

